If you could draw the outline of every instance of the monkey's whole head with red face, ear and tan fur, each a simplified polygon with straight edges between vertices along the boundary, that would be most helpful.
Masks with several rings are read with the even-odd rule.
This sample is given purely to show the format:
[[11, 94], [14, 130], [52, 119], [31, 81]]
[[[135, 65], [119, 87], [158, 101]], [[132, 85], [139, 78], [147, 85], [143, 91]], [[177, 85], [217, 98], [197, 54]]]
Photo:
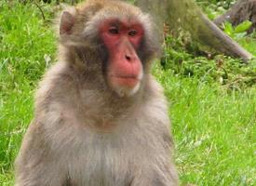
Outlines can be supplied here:
[[159, 54], [150, 17], [115, 0], [93, 0], [63, 11], [61, 45], [74, 49], [91, 71], [97, 69], [119, 97], [135, 95]]

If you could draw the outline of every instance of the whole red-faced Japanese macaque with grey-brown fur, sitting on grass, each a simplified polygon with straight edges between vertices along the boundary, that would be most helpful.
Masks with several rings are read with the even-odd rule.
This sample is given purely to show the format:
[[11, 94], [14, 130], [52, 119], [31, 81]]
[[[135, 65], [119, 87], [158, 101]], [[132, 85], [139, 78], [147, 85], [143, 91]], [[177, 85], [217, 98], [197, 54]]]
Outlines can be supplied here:
[[16, 186], [174, 186], [160, 51], [150, 17], [115, 0], [64, 10], [59, 62], [36, 92]]

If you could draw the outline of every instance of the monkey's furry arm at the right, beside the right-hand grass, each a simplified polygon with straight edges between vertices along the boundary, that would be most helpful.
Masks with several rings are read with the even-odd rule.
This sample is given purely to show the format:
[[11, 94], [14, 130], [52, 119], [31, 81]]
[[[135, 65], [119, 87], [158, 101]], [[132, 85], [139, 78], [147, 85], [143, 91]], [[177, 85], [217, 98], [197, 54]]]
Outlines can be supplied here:
[[179, 180], [171, 158], [174, 145], [169, 128], [168, 103], [163, 96], [163, 89], [154, 78], [150, 86], [156, 91], [149, 97], [141, 113], [141, 117], [145, 118], [141, 125], [145, 130], [143, 139], [147, 139], [144, 143], [148, 144], [148, 153], [142, 158], [145, 162], [140, 163], [138, 169], [135, 168], [132, 186], [176, 186]]

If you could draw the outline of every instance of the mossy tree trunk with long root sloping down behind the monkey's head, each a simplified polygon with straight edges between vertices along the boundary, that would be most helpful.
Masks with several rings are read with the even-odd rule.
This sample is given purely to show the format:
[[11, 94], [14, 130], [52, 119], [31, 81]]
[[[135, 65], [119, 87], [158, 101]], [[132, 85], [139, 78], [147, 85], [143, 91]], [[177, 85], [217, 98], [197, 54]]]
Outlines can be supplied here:
[[135, 3], [154, 15], [160, 30], [164, 22], [173, 30], [182, 26], [191, 33], [195, 41], [210, 46], [215, 51], [239, 57], [244, 61], [252, 58], [248, 51], [211, 22], [193, 0], [136, 0]]

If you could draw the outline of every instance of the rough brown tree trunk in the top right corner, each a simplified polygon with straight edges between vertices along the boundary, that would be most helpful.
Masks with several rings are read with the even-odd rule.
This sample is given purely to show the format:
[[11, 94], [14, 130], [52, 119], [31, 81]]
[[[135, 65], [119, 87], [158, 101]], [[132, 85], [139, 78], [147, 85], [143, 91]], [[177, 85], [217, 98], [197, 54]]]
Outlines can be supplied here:
[[252, 33], [256, 29], [256, 0], [238, 0], [233, 7], [214, 22], [221, 26], [224, 21], [229, 21], [236, 26], [245, 20], [252, 22], [249, 29], [249, 33]]

